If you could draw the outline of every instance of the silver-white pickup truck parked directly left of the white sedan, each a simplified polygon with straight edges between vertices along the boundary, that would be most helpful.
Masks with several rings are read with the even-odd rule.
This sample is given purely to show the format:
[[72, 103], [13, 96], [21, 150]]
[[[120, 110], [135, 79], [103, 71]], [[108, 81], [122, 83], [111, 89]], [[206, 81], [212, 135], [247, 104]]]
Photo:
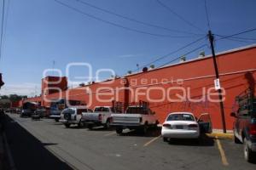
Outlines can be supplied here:
[[143, 105], [130, 105], [123, 114], [111, 115], [111, 126], [116, 133], [121, 134], [125, 128], [135, 129], [141, 133], [147, 133], [148, 127], [157, 127], [158, 120], [154, 112]]

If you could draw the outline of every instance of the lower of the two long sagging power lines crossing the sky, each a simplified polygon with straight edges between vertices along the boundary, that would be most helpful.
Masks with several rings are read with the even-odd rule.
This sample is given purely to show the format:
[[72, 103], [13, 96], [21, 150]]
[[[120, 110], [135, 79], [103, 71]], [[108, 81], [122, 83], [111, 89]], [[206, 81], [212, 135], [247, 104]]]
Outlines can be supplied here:
[[65, 6], [67, 8], [70, 8], [72, 9], [73, 11], [76, 11], [77, 13], [79, 14], [84, 14], [85, 16], [87, 17], [90, 17], [94, 20], [99, 20], [99, 21], [102, 21], [104, 23], [107, 23], [111, 26], [116, 26], [116, 27], [119, 27], [119, 28], [123, 28], [125, 30], [129, 30], [129, 31], [136, 31], [138, 33], [142, 33], [142, 34], [147, 34], [147, 35], [150, 35], [150, 36], [154, 36], [154, 37], [173, 37], [173, 38], [185, 38], [185, 37], [189, 37], [189, 36], [172, 36], [172, 35], [163, 35], [163, 34], [156, 34], [156, 33], [151, 33], [151, 32], [148, 32], [148, 31], [141, 31], [141, 30], [137, 30], [137, 29], [134, 29], [134, 28], [130, 28], [130, 27], [127, 27], [127, 26], [121, 26], [119, 24], [116, 24], [116, 23], [113, 23], [111, 21], [108, 21], [108, 20], [103, 20], [99, 17], [96, 17], [95, 15], [92, 15], [92, 14], [88, 14], [88, 13], [85, 13], [84, 11], [81, 11], [79, 10], [78, 8], [74, 8], [70, 5], [68, 5], [67, 3], [62, 3], [61, 1], [59, 0], [54, 0], [56, 3], [59, 3], [61, 4], [62, 6]]

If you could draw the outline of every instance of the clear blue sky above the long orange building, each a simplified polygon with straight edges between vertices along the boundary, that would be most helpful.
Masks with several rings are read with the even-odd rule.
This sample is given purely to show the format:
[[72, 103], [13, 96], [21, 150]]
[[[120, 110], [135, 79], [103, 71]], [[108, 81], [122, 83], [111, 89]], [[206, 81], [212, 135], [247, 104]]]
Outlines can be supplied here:
[[[59, 1], [119, 26], [170, 37], [157, 37], [109, 25], [79, 14], [54, 0], [5, 0], [3, 54], [0, 60], [0, 72], [3, 72], [5, 87], [1, 89], [0, 94], [38, 94], [43, 71], [53, 67], [53, 60], [55, 60], [55, 68], [60, 69], [64, 74], [68, 63], [87, 62], [92, 65], [93, 73], [100, 68], [110, 68], [117, 75], [124, 75], [127, 71], [136, 70], [137, 64], [148, 64], [162, 55], [207, 35], [204, 0], [160, 0], [200, 29], [189, 26], [163, 8], [156, 0]], [[153, 25], [201, 35], [195, 36], [143, 26], [91, 8], [81, 2]], [[228, 36], [255, 28], [255, 7], [254, 0], [207, 0], [212, 32]], [[177, 36], [183, 37], [177, 38]], [[239, 37], [256, 38], [256, 31]], [[161, 59], [154, 65], [162, 65], [206, 42], [205, 38], [166, 59]], [[220, 52], [252, 43], [252, 41], [222, 40], [215, 45], [216, 51]], [[209, 47], [206, 46], [186, 57], [194, 58], [202, 50], [206, 51], [206, 54], [210, 53]], [[86, 70], [82, 68], [74, 69], [71, 77], [84, 76], [85, 72]], [[108, 76], [102, 75], [102, 78]]]

